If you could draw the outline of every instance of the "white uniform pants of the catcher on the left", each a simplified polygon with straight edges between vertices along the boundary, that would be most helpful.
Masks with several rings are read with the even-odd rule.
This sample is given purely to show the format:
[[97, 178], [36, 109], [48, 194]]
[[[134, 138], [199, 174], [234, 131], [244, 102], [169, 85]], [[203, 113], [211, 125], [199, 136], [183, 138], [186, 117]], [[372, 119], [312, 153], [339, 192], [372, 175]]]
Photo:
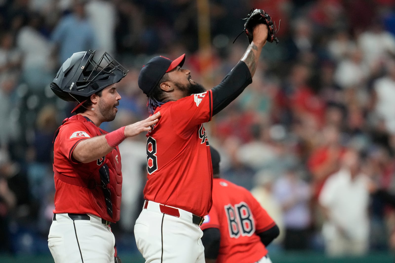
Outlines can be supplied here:
[[72, 220], [56, 214], [48, 235], [48, 247], [55, 263], [114, 263], [115, 237], [102, 218]]

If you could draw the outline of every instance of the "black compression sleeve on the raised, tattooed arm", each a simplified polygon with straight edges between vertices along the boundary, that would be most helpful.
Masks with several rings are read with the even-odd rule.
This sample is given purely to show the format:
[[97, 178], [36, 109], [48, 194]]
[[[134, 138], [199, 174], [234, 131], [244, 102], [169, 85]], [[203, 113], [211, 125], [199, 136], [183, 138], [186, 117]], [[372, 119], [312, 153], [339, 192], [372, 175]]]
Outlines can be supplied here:
[[222, 82], [212, 89], [213, 116], [228, 106], [251, 83], [250, 69], [243, 61], [239, 61]]

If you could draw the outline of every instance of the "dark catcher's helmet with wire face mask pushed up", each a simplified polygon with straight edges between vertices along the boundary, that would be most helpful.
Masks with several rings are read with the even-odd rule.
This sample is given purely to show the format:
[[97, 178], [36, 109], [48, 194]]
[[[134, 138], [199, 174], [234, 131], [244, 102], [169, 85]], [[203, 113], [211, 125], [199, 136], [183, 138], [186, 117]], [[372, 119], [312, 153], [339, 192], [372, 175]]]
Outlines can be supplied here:
[[129, 72], [107, 52], [96, 63], [95, 52], [76, 52], [63, 63], [50, 85], [56, 96], [64, 101], [81, 102], [119, 82]]

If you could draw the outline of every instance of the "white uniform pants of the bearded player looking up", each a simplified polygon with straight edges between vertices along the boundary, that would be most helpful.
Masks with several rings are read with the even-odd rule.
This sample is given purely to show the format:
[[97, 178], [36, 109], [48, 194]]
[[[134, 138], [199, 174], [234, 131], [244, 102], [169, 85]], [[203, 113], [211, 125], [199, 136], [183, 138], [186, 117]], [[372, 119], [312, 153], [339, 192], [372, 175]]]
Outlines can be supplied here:
[[203, 231], [192, 223], [192, 213], [178, 209], [180, 217], [160, 212], [148, 202], [134, 226], [137, 248], [146, 263], [205, 263]]

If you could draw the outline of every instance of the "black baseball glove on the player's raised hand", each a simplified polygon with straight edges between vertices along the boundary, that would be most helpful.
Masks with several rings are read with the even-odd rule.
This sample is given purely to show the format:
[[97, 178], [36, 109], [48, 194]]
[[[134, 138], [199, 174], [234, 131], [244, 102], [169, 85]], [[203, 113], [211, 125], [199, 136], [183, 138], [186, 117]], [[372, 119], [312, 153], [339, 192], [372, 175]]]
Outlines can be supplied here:
[[[246, 22], [244, 23], [243, 32], [245, 32], [245, 34], [247, 35], [250, 44], [253, 38], [252, 31], [254, 29], [254, 26], [256, 26], [257, 24], [266, 24], [267, 28], [269, 29], [269, 34], [267, 34], [267, 41], [269, 41], [270, 43], [276, 41], [276, 43], [278, 43], [278, 39], [276, 37], [276, 33], [278, 32], [276, 24], [273, 25], [270, 15], [265, 13], [265, 11], [263, 11], [262, 9], [255, 9], [254, 11], [251, 10], [245, 20]], [[278, 26], [280, 27], [280, 24], [278, 24]], [[233, 43], [234, 42], [235, 41], [233, 41]]]

